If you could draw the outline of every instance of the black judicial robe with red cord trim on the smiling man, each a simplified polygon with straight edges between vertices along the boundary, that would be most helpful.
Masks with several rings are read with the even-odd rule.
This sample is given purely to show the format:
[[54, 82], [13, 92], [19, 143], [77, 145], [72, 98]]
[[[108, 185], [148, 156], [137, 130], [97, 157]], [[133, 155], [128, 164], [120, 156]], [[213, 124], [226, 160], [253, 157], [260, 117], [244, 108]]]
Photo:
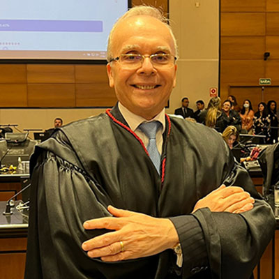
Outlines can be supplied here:
[[[273, 236], [270, 206], [215, 130], [166, 116], [163, 137], [161, 176], [117, 108], [70, 123], [36, 146], [26, 279], [250, 277]], [[192, 214], [197, 200], [222, 183], [250, 192], [254, 209]], [[89, 258], [82, 242], [107, 230], [82, 224], [110, 216], [109, 204], [170, 218], [183, 250], [182, 269], [171, 249], [121, 262]]]

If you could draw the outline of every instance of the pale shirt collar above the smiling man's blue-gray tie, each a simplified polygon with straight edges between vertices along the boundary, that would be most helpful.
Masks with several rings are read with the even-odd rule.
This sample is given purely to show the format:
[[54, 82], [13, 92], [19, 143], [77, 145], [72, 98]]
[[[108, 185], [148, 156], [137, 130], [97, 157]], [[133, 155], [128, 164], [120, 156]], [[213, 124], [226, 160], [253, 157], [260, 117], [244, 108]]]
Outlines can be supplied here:
[[165, 107], [163, 110], [157, 114], [153, 119], [146, 120], [142, 116], [139, 116], [137, 114], [134, 114], [133, 112], [130, 112], [126, 107], [124, 107], [120, 102], [118, 103], [119, 111], [121, 112], [123, 118], [128, 123], [128, 126], [130, 127], [133, 132], [137, 129], [138, 126], [142, 122], [150, 122], [150, 121], [159, 121], [162, 124], [163, 130], [162, 134], [165, 132]]

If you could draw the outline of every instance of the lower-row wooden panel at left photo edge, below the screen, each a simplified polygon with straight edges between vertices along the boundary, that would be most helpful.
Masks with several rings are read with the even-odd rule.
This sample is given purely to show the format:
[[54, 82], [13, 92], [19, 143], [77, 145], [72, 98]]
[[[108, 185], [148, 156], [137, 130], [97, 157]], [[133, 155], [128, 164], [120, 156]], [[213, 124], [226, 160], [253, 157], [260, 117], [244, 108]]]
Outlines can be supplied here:
[[0, 107], [27, 107], [27, 84], [0, 84]]

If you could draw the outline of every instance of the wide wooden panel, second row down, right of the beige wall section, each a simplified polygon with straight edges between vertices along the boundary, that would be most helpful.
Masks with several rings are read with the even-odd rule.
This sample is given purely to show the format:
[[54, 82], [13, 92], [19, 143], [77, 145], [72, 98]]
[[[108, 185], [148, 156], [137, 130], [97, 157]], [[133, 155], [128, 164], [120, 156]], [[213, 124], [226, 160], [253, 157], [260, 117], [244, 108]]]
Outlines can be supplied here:
[[221, 36], [264, 36], [265, 13], [222, 13]]

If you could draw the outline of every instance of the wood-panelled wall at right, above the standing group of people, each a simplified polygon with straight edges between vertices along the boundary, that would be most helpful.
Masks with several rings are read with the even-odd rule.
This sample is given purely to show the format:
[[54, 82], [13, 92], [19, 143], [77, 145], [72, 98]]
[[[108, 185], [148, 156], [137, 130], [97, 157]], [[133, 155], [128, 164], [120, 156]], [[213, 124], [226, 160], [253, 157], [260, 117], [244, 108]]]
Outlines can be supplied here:
[[[222, 0], [220, 5], [220, 96], [279, 102], [279, 1]], [[264, 60], [264, 53], [269, 57]], [[259, 85], [271, 78], [271, 85]]]

